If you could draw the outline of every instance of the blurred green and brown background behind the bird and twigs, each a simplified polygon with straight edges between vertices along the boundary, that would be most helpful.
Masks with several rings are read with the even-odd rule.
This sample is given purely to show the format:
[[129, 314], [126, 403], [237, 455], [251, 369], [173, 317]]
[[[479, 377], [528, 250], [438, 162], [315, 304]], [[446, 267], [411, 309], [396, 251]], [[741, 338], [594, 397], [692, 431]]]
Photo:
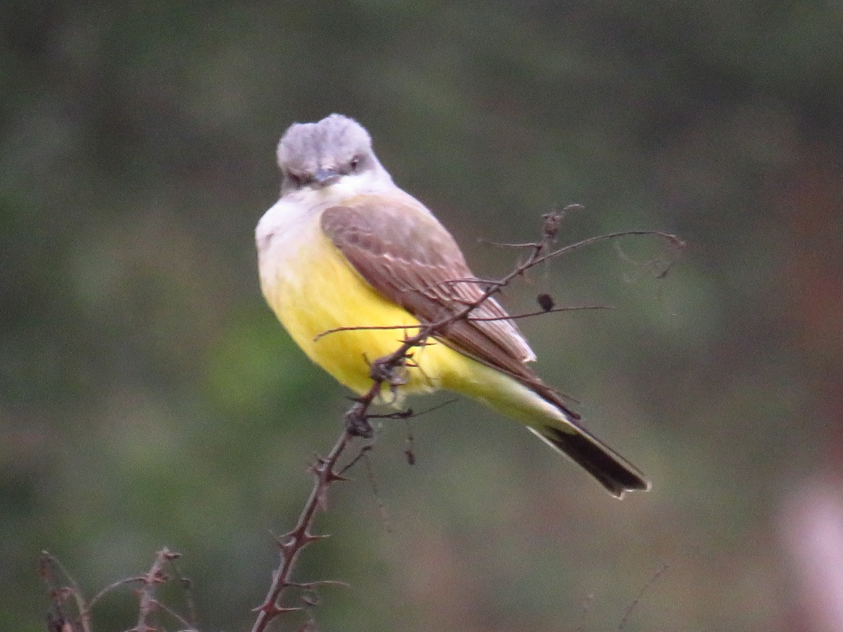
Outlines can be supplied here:
[[[838, 3], [3, 3], [0, 629], [45, 629], [56, 554], [90, 596], [184, 555], [203, 630], [248, 629], [271, 533], [346, 392], [266, 308], [253, 229], [277, 138], [352, 115], [475, 271], [583, 204], [537, 270], [607, 312], [522, 327], [638, 463], [617, 502], [460, 401], [335, 488], [299, 579], [326, 630], [820, 630], [843, 603]], [[443, 398], [417, 401], [416, 408]], [[835, 544], [836, 543], [836, 544]], [[840, 565], [843, 567], [843, 564]], [[131, 627], [105, 599], [96, 629]], [[832, 622], [832, 623], [829, 623]]]

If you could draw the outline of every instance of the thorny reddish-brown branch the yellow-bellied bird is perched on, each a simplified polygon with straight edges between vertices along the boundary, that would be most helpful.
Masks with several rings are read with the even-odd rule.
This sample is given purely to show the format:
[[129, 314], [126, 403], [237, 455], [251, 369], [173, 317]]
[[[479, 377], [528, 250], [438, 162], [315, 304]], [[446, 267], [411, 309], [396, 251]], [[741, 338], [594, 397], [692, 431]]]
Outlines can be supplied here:
[[[395, 389], [399, 388], [403, 383], [405, 383], [405, 378], [403, 377], [402, 369], [411, 366], [412, 350], [414, 348], [427, 345], [427, 340], [432, 335], [438, 334], [438, 332], [446, 328], [449, 324], [453, 324], [454, 322], [460, 319], [472, 319], [478, 321], [494, 320], [494, 318], [473, 318], [470, 314], [472, 311], [475, 310], [475, 308], [478, 308], [479, 306], [481, 306], [481, 304], [486, 302], [489, 297], [499, 292], [503, 287], [507, 287], [507, 285], [509, 285], [509, 283], [511, 283], [515, 278], [517, 278], [518, 276], [524, 276], [524, 273], [527, 270], [530, 270], [536, 265], [540, 265], [546, 260], [550, 260], [552, 258], [561, 256], [561, 254], [566, 254], [568, 252], [571, 252], [572, 250], [584, 248], [585, 246], [596, 244], [600, 241], [604, 241], [607, 239], [616, 239], [626, 236], [647, 236], [661, 238], [666, 240], [668, 244], [670, 244], [671, 247], [674, 249], [679, 250], [685, 248], [685, 242], [679, 239], [676, 235], [652, 230], [632, 230], [599, 235], [597, 237], [583, 239], [582, 241], [578, 241], [574, 244], [562, 246], [561, 248], [550, 249], [550, 246], [556, 242], [556, 237], [559, 233], [562, 217], [564, 217], [566, 212], [572, 211], [579, 207], [579, 205], [566, 206], [566, 208], [562, 209], [561, 211], [546, 214], [544, 216], [545, 221], [543, 222], [541, 228], [541, 238], [538, 242], [529, 244], [498, 244], [513, 248], [529, 249], [529, 254], [527, 258], [522, 263], [518, 264], [506, 276], [503, 276], [501, 279], [497, 281], [492, 281], [488, 279], [456, 279], [452, 281], [447, 281], [448, 283], [474, 283], [480, 285], [481, 287], [484, 287], [485, 289], [483, 290], [481, 296], [478, 297], [475, 301], [472, 301], [470, 303], [461, 303], [461, 308], [454, 311], [453, 313], [448, 314], [448, 316], [443, 317], [442, 319], [439, 319], [432, 323], [421, 323], [417, 325], [396, 325], [385, 327], [341, 327], [337, 329], [326, 330], [316, 336], [316, 340], [319, 340], [319, 338], [325, 335], [355, 329], [417, 329], [415, 335], [405, 336], [405, 339], [403, 340], [403, 342], [401, 342], [398, 348], [395, 349], [395, 351], [393, 351], [387, 356], [379, 357], [370, 363], [369, 377], [372, 378], [371, 388], [369, 388], [365, 394], [362, 394], [362, 396], [354, 399], [354, 404], [352, 404], [352, 407], [348, 409], [346, 411], [346, 414], [344, 415], [345, 428], [342, 431], [340, 437], [337, 439], [334, 447], [331, 449], [329, 455], [326, 458], [319, 458], [316, 463], [314, 463], [314, 465], [312, 466], [311, 470], [314, 474], [313, 489], [311, 490], [309, 499], [305, 503], [304, 508], [298, 517], [298, 522], [295, 528], [293, 528], [293, 530], [289, 533], [285, 533], [281, 537], [277, 538], [277, 546], [281, 557], [280, 564], [277, 570], [275, 570], [272, 575], [271, 586], [266, 594], [264, 602], [260, 605], [260, 607], [255, 608], [258, 611], [258, 616], [257, 619], [255, 619], [255, 624], [252, 627], [252, 632], [263, 632], [264, 630], [266, 630], [267, 625], [271, 622], [271, 620], [275, 619], [278, 615], [282, 613], [299, 612], [303, 610], [303, 608], [300, 606], [282, 606], [281, 599], [284, 593], [287, 591], [287, 588], [299, 586], [298, 584], [290, 580], [290, 576], [293, 571], [293, 566], [295, 565], [295, 561], [298, 558], [298, 554], [305, 546], [307, 546], [311, 542], [314, 542], [314, 540], [318, 540], [324, 537], [310, 533], [310, 528], [313, 524], [316, 510], [318, 508], [324, 508], [325, 499], [330, 485], [339, 480], [346, 480], [343, 474], [349, 467], [351, 467], [353, 464], [357, 463], [358, 460], [360, 460], [360, 456], [358, 456], [357, 458], [352, 459], [352, 462], [346, 465], [345, 468], [337, 469], [337, 462], [341, 458], [342, 453], [352, 443], [355, 437], [373, 437], [373, 428], [372, 425], [369, 423], [369, 420], [384, 415], [373, 415], [369, 412], [369, 409], [371, 408], [375, 399], [378, 399], [379, 395], [382, 395], [384, 393], [384, 388], [389, 388], [389, 390], [395, 392]], [[528, 316], [539, 315], [541, 313], [560, 312], [572, 309], [605, 308], [605, 306], [554, 308], [552, 304], [552, 299], [550, 299], [550, 297], [547, 297], [544, 300], [543, 298], [544, 297], [540, 297], [540, 306], [542, 308], [541, 311], [534, 313], [517, 314], [508, 318], [519, 319], [526, 318]], [[411, 411], [406, 411], [403, 413], [394, 413], [385, 416], [406, 418], [411, 415]], [[362, 453], [364, 453], [366, 449], [367, 448], [364, 447]], [[412, 463], [412, 459], [412, 454], [408, 453], [408, 461]]]

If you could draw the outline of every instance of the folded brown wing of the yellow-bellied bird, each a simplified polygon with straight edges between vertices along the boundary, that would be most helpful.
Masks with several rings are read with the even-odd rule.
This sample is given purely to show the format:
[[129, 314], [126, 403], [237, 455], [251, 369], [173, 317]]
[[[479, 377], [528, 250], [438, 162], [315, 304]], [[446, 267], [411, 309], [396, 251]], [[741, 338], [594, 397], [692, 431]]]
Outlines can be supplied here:
[[[423, 322], [443, 319], [483, 295], [479, 283], [455, 282], [475, 276], [450, 233], [435, 217], [400, 198], [360, 196], [351, 205], [325, 210], [321, 225], [372, 287]], [[487, 299], [471, 315], [503, 320], [461, 319], [438, 339], [539, 389], [556, 403], [558, 395], [524, 366], [535, 359], [533, 351], [497, 301]]]

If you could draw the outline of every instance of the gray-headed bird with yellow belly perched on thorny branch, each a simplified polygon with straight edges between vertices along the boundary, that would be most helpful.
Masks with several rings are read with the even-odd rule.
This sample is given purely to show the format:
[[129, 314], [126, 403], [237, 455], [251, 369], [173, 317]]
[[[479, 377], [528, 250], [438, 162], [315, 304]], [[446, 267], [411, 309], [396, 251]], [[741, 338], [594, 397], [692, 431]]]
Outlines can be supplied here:
[[[281, 198], [256, 233], [260, 287], [309, 358], [348, 388], [372, 388], [369, 362], [400, 345], [400, 329], [441, 320], [483, 295], [451, 234], [396, 186], [357, 121], [332, 114], [295, 123], [278, 143]], [[523, 423], [612, 495], [647, 490], [631, 463], [580, 424], [528, 366], [535, 360], [507, 313], [488, 298], [413, 351], [404, 394], [444, 388]], [[480, 320], [485, 319], [485, 320]], [[414, 328], [415, 326], [415, 328]], [[330, 335], [336, 328], [361, 327]]]

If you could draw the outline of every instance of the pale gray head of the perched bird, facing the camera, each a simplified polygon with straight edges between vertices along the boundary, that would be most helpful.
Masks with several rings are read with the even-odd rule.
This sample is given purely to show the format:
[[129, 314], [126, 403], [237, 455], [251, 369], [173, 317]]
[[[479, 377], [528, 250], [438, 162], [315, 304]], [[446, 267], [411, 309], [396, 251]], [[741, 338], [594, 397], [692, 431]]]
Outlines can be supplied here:
[[282, 195], [305, 187], [322, 189], [346, 176], [391, 182], [372, 151], [368, 131], [341, 114], [289, 126], [278, 143], [278, 168]]

